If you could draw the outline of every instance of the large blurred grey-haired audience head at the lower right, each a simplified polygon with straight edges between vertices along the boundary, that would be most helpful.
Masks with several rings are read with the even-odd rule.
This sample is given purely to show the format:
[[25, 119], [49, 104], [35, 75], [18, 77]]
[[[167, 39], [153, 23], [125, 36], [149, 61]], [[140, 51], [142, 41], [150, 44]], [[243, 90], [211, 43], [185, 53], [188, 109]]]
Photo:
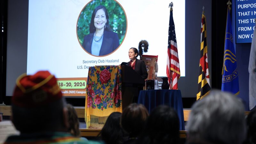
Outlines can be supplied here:
[[244, 105], [235, 95], [213, 90], [192, 106], [187, 141], [241, 144], [246, 133], [244, 117]]

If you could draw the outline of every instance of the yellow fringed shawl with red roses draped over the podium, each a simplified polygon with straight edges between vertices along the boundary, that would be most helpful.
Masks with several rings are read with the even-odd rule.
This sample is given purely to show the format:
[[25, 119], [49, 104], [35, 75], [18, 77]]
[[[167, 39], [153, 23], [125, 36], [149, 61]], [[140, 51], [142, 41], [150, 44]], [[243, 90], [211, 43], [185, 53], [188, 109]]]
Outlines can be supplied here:
[[102, 128], [112, 112], [122, 112], [121, 66], [90, 67], [86, 85], [86, 128]]

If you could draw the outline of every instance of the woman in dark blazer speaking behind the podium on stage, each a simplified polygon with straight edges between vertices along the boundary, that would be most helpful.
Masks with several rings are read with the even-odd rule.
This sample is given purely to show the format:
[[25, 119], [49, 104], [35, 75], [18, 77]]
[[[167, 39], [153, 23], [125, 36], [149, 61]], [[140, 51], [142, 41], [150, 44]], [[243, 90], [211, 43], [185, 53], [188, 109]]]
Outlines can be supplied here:
[[130, 61], [127, 63], [131, 66], [144, 80], [148, 77], [146, 65], [143, 60], [138, 60], [139, 52], [136, 48], [132, 47], [128, 53]]

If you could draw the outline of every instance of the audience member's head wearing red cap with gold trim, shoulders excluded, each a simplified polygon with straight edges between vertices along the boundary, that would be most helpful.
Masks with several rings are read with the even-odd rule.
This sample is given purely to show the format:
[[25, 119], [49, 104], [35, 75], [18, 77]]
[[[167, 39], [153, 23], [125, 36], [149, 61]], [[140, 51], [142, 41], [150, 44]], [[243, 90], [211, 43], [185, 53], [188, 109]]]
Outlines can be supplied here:
[[48, 71], [21, 75], [12, 96], [12, 122], [21, 133], [67, 132], [65, 100]]

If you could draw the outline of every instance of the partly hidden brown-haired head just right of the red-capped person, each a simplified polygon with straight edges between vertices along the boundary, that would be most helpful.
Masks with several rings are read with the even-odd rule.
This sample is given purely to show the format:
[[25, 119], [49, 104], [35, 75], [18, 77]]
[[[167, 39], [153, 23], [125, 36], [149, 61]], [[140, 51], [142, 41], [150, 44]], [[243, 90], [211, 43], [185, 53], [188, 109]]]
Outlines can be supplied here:
[[76, 110], [71, 104], [67, 104], [67, 109], [68, 109], [68, 123], [69, 123], [68, 132], [70, 132], [75, 137], [79, 137], [80, 136], [79, 119], [76, 114]]

